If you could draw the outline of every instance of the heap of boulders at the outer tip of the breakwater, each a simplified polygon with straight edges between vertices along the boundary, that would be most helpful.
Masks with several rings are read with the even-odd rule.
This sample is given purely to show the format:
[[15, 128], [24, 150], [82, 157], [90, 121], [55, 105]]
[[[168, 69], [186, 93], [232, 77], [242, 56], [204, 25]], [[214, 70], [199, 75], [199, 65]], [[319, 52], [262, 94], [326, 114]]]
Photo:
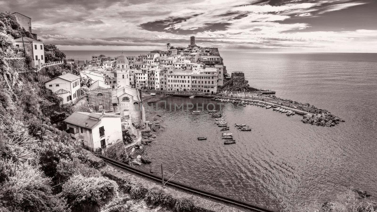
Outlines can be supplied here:
[[332, 127], [340, 122], [344, 122], [344, 120], [331, 114], [331, 112], [322, 112], [311, 116], [304, 115], [301, 121], [303, 123], [316, 124], [318, 126], [326, 127]]

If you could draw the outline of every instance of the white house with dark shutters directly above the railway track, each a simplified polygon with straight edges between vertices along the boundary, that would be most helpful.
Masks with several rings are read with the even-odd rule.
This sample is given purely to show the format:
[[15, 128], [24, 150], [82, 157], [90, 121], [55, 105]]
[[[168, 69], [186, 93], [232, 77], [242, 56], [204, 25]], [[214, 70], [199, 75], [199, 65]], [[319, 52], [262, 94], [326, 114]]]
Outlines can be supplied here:
[[123, 140], [121, 115], [112, 113], [74, 112], [64, 119], [72, 138], [83, 139], [85, 149], [100, 152]]

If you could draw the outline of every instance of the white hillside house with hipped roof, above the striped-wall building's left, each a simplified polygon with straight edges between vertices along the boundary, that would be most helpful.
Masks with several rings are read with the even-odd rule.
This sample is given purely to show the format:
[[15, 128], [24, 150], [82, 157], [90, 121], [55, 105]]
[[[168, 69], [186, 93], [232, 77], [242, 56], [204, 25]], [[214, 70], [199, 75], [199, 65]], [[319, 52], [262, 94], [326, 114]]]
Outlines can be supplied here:
[[75, 103], [81, 95], [80, 77], [70, 73], [52, 78], [46, 81], [44, 86], [63, 98], [61, 104]]

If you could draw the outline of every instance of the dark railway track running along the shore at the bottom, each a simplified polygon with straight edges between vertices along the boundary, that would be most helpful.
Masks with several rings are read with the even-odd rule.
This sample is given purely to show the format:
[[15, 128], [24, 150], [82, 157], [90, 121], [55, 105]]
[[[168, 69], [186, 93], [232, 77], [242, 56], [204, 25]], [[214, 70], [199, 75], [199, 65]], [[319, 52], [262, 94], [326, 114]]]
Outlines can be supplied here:
[[[146, 172], [142, 169], [138, 169], [138, 168], [129, 166], [127, 164], [121, 163], [119, 161], [113, 160], [113, 159], [105, 157], [103, 155], [99, 155], [99, 156], [100, 156], [100, 158], [107, 161], [108, 163], [111, 163], [115, 166], [126, 169], [127, 171], [136, 173], [138, 175], [142, 175], [142, 176], [147, 177], [147, 178], [152, 179], [152, 180], [161, 181], [161, 177], [159, 175], [151, 174], [151, 173]], [[178, 183], [178, 182], [173, 181], [173, 180], [167, 182], [166, 184], [169, 185], [169, 186], [178, 187], [179, 189], [182, 189], [184, 191], [189, 191], [193, 194], [202, 195], [204, 197], [212, 198], [214, 200], [218, 200], [218, 201], [221, 201], [223, 203], [232, 204], [232, 205], [239, 206], [239, 207], [249, 209], [249, 210], [252, 210], [252, 211], [276, 212], [276, 211], [273, 211], [273, 210], [264, 209], [262, 207], [253, 206], [253, 205], [246, 203], [244, 201], [241, 201], [241, 200], [235, 200], [235, 199], [223, 196], [223, 195], [214, 194], [212, 192], [208, 192], [208, 191], [205, 191], [205, 190], [202, 190], [202, 189], [199, 189], [199, 188], [191, 187], [191, 186], [183, 184], [183, 183]]]

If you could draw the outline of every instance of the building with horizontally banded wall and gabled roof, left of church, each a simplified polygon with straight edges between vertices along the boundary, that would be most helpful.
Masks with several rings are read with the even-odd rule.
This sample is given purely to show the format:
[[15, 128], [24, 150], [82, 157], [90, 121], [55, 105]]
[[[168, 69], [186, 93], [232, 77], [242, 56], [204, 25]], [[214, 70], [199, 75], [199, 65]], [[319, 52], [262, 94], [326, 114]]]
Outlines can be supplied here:
[[110, 85], [105, 84], [100, 80], [97, 80], [90, 85], [88, 104], [89, 108], [93, 109], [95, 112], [112, 112], [113, 104]]

